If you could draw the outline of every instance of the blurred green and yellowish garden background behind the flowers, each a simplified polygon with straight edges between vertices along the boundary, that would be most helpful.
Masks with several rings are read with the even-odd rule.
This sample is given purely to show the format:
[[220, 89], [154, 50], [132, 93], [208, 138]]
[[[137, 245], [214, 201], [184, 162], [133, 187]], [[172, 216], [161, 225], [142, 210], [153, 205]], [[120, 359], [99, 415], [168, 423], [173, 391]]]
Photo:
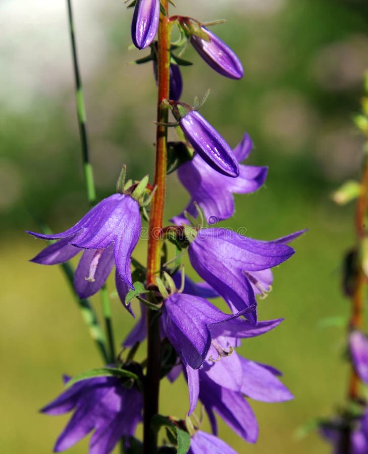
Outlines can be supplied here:
[[[260, 433], [249, 445], [220, 424], [239, 453], [327, 453], [315, 434], [297, 439], [302, 424], [328, 416], [346, 394], [344, 329], [321, 320], [346, 316], [341, 257], [354, 239], [353, 207], [335, 207], [331, 192], [359, 173], [362, 139], [352, 127], [368, 68], [365, 0], [178, 0], [178, 13], [202, 21], [226, 17], [215, 32], [243, 62], [241, 81], [222, 78], [188, 49], [182, 99], [208, 88], [201, 113], [235, 146], [244, 131], [255, 148], [249, 162], [269, 165], [258, 193], [236, 197], [224, 223], [273, 239], [309, 228], [297, 254], [275, 270], [274, 291], [259, 318], [285, 317], [273, 332], [244, 343], [242, 353], [284, 372], [295, 394], [285, 404], [252, 403]], [[86, 211], [63, 1], [0, 2], [0, 219], [2, 276], [2, 452], [50, 452], [67, 417], [37, 410], [62, 390], [61, 374], [100, 365], [59, 267], [28, 262], [44, 245], [24, 234], [36, 216], [64, 230]], [[155, 86], [152, 68], [128, 62], [131, 10], [123, 2], [75, 2], [80, 63], [98, 197], [110, 195], [123, 163], [131, 178], [152, 174]], [[187, 194], [171, 176], [168, 217]], [[135, 255], [144, 260], [144, 242]], [[110, 285], [113, 290], [113, 285]], [[132, 320], [113, 300], [117, 345]], [[99, 311], [98, 296], [93, 304]], [[140, 355], [143, 356], [141, 351]], [[162, 412], [184, 417], [183, 380], [163, 384]], [[86, 452], [83, 441], [69, 452]]]

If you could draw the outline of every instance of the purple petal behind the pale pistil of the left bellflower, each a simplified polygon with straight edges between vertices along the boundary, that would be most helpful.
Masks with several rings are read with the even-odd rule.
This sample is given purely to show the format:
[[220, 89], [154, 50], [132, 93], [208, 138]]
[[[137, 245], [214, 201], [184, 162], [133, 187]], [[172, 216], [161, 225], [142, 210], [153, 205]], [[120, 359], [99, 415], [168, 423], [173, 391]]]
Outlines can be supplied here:
[[102, 251], [85, 250], [74, 274], [74, 288], [79, 298], [88, 298], [98, 292], [109, 277], [113, 266], [114, 255], [111, 246]]

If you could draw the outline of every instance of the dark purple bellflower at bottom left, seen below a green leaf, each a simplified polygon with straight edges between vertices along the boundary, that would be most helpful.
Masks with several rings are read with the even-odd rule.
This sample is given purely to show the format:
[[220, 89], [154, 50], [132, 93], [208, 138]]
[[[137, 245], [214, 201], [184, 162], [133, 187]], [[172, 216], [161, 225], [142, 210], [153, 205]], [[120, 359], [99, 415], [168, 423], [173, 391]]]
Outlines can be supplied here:
[[59, 436], [55, 452], [70, 448], [94, 430], [89, 454], [109, 454], [123, 436], [133, 436], [142, 420], [143, 396], [115, 377], [95, 377], [75, 383], [41, 412], [74, 414]]

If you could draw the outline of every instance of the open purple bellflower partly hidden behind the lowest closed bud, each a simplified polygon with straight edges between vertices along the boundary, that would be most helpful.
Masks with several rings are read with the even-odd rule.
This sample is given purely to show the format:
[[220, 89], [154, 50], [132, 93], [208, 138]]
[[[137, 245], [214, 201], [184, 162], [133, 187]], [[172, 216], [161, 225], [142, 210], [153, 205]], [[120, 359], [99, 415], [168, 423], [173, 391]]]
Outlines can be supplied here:
[[[250, 137], [244, 134], [243, 140], [233, 149], [233, 154], [237, 161], [241, 162], [248, 157], [251, 149]], [[213, 221], [228, 219], [234, 214], [233, 193], [254, 192], [264, 184], [267, 167], [239, 165], [239, 176], [231, 178], [219, 174], [199, 156], [194, 156], [191, 161], [179, 167], [178, 176], [191, 195], [185, 211], [196, 217], [195, 203], [197, 203], [207, 220], [213, 223]], [[187, 222], [184, 211], [175, 216], [172, 221], [177, 224]]]

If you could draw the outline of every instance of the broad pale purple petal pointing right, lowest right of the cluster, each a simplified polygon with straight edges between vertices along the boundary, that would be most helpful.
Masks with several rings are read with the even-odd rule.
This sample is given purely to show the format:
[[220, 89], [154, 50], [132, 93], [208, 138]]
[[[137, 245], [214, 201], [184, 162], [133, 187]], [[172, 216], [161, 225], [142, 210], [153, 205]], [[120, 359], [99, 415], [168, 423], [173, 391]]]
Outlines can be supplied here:
[[243, 369], [243, 394], [261, 402], [284, 402], [294, 398], [269, 370], [245, 358], [240, 357], [240, 362]]

